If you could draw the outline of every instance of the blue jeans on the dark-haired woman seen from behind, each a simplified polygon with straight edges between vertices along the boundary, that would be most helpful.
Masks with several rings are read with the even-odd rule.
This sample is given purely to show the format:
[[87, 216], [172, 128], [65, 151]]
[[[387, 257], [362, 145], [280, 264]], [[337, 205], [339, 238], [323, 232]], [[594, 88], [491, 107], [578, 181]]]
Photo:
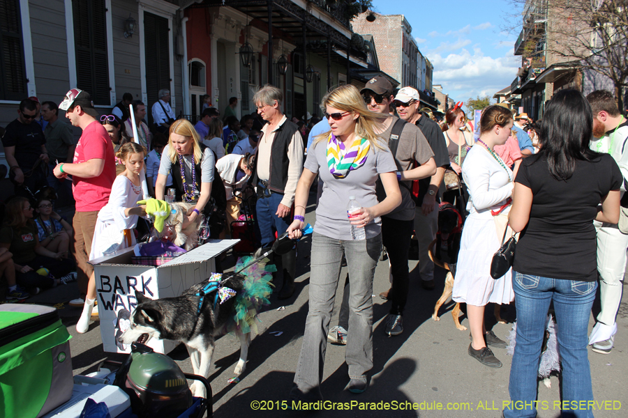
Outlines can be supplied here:
[[[562, 401], [592, 401], [588, 325], [596, 281], [551, 279], [514, 272], [517, 336], [504, 417], [536, 417], [537, 376], [550, 302], [554, 302], [562, 368]], [[575, 403], [574, 403], [575, 405]], [[562, 417], [591, 418], [590, 409], [562, 410]]]

